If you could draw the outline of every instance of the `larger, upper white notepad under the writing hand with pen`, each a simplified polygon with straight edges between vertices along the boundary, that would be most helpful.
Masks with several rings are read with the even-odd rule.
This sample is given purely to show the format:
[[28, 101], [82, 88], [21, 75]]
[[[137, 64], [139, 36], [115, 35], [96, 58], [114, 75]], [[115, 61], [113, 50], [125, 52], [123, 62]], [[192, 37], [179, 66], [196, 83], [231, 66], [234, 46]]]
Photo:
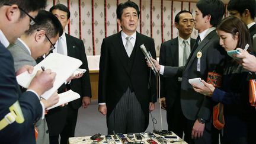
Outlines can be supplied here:
[[25, 71], [17, 76], [17, 81], [21, 87], [28, 88], [37, 71], [41, 70], [41, 66], [44, 66], [45, 69], [51, 69], [52, 72], [56, 72], [53, 88], [41, 95], [41, 97], [47, 100], [53, 94], [53, 92], [55, 92], [81, 65], [82, 62], [79, 59], [60, 55], [59, 53], [51, 53], [39, 64], [34, 66], [33, 73], [30, 74]]

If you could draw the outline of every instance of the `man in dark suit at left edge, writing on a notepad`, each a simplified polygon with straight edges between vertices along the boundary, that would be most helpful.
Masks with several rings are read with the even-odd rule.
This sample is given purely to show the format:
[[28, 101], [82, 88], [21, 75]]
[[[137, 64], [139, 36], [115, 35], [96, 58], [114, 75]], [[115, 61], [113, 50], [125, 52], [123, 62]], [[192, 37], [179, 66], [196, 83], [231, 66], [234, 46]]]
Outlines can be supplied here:
[[[0, 1], [0, 143], [36, 143], [34, 123], [44, 117], [40, 95], [53, 87], [56, 73], [49, 69], [37, 72], [27, 91], [22, 94], [16, 80], [14, 61], [7, 47], [28, 30], [29, 25], [34, 24], [38, 10], [45, 6], [46, 1]], [[16, 74], [24, 71], [31, 73], [33, 68], [24, 66]], [[20, 105], [20, 112], [24, 116], [24, 121], [19, 123], [17, 111], [9, 110], [15, 102], [19, 103], [17, 105]]]

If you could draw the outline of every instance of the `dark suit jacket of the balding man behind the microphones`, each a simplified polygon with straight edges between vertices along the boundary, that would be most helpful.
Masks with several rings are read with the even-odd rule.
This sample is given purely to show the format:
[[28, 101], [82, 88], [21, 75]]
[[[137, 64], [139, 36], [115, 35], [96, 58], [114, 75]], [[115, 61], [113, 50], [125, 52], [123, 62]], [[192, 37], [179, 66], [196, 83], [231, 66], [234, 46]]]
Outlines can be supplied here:
[[[190, 40], [190, 49], [193, 48], [195, 39]], [[172, 40], [165, 41], [161, 44], [159, 64], [165, 66], [178, 66], [178, 37]], [[180, 98], [180, 84], [178, 77], [173, 76], [171, 78], [161, 78], [161, 97], [165, 97], [167, 103], [167, 110], [171, 110], [174, 104], [175, 98]]]

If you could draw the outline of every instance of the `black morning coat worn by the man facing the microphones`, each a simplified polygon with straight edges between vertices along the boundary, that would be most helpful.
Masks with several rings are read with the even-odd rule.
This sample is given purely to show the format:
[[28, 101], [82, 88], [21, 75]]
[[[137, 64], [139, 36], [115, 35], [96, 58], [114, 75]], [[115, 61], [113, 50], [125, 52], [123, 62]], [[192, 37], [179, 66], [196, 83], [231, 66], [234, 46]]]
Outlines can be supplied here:
[[[133, 51], [135, 57], [132, 69], [127, 66], [128, 56], [123, 46], [121, 32], [105, 39], [101, 45], [100, 77], [98, 85], [98, 103], [107, 104], [107, 117], [116, 107], [121, 96], [128, 87], [133, 89], [146, 117], [148, 127], [149, 102], [156, 101], [156, 77], [146, 65], [145, 56], [140, 50], [144, 44], [146, 49], [156, 58], [155, 44], [152, 38], [137, 33]], [[150, 78], [151, 75], [151, 79]], [[149, 80], [151, 85], [148, 86]]]

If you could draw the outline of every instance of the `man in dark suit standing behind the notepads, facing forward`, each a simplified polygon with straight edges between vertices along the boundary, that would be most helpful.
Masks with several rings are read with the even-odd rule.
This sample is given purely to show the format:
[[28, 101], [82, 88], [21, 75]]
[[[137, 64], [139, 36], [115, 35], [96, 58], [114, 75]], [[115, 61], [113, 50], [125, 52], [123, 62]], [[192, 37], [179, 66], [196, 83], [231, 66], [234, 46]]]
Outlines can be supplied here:
[[[62, 24], [63, 30], [69, 23], [70, 12], [69, 9], [62, 4], [54, 5], [50, 8], [52, 12]], [[87, 57], [85, 55], [85, 47], [82, 40], [69, 34], [63, 33], [56, 43], [56, 49], [53, 52], [60, 53], [62, 55], [68, 55], [75, 57], [82, 61], [80, 68], [86, 69], [87, 72], [79, 79], [72, 79], [69, 84], [62, 87], [63, 90], [58, 90], [59, 93], [72, 89], [77, 92], [81, 98], [70, 102], [65, 107], [56, 107], [49, 111], [46, 116], [47, 124], [49, 126], [50, 143], [66, 144], [69, 137], [75, 136], [75, 126], [78, 117], [79, 107], [87, 108], [91, 103], [91, 84], [89, 80], [89, 69], [87, 63]]]

